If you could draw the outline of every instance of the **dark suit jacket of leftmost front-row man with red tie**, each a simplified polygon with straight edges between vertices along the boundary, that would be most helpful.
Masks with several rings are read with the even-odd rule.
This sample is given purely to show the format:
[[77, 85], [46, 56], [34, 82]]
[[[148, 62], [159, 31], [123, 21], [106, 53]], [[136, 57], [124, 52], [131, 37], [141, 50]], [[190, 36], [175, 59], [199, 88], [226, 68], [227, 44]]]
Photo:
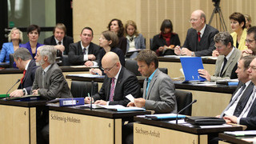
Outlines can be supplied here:
[[29, 66], [27, 67], [25, 77], [23, 78], [23, 82], [19, 84], [18, 89], [26, 89], [26, 92], [30, 94], [31, 87], [34, 82], [35, 70], [37, 70], [38, 66], [36, 66], [34, 59], [30, 61]]

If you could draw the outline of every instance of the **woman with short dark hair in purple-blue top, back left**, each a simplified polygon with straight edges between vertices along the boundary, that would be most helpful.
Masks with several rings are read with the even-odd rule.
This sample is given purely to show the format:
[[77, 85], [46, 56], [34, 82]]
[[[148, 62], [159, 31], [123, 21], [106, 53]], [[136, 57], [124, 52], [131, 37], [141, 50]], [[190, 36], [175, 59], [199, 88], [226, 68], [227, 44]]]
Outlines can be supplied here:
[[22, 44], [21, 47], [25, 47], [27, 50], [30, 51], [32, 58], [34, 59], [35, 54], [37, 54], [37, 50], [39, 46], [42, 44], [38, 43], [38, 38], [40, 35], [40, 27], [37, 25], [30, 25], [26, 29], [27, 37], [29, 38], [29, 42], [26, 44]]

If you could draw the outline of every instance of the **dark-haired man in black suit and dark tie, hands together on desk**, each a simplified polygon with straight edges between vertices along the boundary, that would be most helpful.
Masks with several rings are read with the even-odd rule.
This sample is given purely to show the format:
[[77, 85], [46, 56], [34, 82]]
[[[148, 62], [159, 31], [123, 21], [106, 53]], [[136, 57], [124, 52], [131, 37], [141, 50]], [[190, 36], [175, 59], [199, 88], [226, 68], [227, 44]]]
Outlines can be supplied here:
[[94, 31], [90, 27], [82, 29], [81, 41], [70, 44], [69, 61], [72, 65], [98, 66], [100, 47], [93, 42]]

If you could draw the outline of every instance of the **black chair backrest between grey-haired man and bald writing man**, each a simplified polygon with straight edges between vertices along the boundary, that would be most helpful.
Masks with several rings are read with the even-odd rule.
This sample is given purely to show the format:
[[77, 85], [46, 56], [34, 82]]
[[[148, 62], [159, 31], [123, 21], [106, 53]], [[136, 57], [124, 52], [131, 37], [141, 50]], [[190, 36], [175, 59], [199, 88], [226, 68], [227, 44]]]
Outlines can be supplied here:
[[70, 91], [74, 98], [85, 98], [88, 93], [92, 96], [98, 93], [98, 82], [94, 82], [93, 94], [91, 94], [91, 82], [72, 81]]

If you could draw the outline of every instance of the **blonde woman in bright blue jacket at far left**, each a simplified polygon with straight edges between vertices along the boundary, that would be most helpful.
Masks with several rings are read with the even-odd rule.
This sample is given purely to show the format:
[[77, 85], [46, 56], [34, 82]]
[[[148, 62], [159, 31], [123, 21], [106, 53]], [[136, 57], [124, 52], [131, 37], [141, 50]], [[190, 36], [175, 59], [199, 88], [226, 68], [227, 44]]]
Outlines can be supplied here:
[[22, 31], [16, 27], [12, 28], [8, 34], [8, 41], [2, 45], [0, 62], [10, 62], [10, 54], [14, 54], [14, 51], [21, 46], [23, 41]]

